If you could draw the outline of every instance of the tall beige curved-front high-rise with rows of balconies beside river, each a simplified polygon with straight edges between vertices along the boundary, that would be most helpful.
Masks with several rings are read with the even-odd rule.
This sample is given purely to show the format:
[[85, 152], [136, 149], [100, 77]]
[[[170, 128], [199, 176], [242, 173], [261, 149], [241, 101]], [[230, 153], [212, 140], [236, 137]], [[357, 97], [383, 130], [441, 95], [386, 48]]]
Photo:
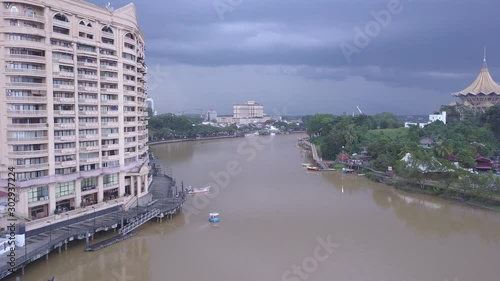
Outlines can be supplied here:
[[73, 218], [147, 194], [147, 68], [135, 6], [14, 0], [1, 9], [0, 190], [14, 168], [18, 215], [75, 210]]

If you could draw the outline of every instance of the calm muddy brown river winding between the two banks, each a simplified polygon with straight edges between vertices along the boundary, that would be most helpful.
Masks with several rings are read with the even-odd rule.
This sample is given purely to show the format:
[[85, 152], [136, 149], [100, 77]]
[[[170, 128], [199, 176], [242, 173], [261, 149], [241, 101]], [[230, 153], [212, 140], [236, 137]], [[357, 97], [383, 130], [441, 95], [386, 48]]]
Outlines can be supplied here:
[[74, 243], [29, 265], [21, 280], [500, 280], [500, 213], [363, 176], [307, 172], [297, 137], [152, 146], [179, 184], [211, 185], [211, 193], [101, 251]]

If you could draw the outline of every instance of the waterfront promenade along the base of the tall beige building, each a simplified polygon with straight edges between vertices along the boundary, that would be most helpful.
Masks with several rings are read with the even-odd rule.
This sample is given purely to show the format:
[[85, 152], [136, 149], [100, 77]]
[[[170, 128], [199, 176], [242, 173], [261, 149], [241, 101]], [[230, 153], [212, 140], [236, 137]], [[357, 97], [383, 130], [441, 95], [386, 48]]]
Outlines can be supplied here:
[[[74, 240], [83, 240], [87, 236], [93, 237], [100, 231], [117, 231], [120, 227], [127, 227], [151, 210], [158, 210], [158, 218], [169, 217], [182, 210], [186, 200], [183, 191], [177, 190], [175, 180], [165, 175], [166, 167], [158, 160], [152, 160], [153, 181], [146, 200], [136, 200], [136, 205], [124, 210], [122, 206], [115, 206], [106, 210], [90, 213], [79, 218], [69, 219], [54, 225], [37, 228], [26, 232], [26, 244], [15, 250], [15, 274], [23, 274], [26, 265], [57, 250], [61, 252], [67, 243]], [[179, 192], [177, 192], [179, 191]], [[83, 251], [84, 249], [82, 249]], [[8, 264], [7, 253], [0, 256], [0, 279], [11, 274], [12, 266]]]

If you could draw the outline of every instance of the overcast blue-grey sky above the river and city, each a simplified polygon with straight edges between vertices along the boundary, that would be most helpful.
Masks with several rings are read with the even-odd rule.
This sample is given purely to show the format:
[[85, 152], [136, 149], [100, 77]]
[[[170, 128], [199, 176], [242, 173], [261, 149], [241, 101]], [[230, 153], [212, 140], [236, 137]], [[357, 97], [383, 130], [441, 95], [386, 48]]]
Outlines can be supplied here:
[[[148, 94], [159, 113], [227, 114], [234, 103], [256, 100], [267, 114], [352, 114], [357, 105], [368, 114], [429, 114], [472, 83], [484, 46], [500, 81], [498, 0], [135, 5], [146, 36]], [[364, 41], [354, 40], [356, 28]]]

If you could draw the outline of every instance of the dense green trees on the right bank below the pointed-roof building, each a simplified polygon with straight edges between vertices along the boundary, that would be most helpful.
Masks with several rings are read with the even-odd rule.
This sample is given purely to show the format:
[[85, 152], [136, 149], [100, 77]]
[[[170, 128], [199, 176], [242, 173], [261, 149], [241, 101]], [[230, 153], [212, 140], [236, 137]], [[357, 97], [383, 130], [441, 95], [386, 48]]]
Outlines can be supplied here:
[[[323, 159], [335, 160], [342, 151], [365, 151], [370, 168], [384, 172], [392, 166], [398, 176], [413, 182], [436, 181], [474, 192], [477, 188], [478, 192], [500, 193], [500, 177], [468, 170], [476, 166], [478, 155], [500, 156], [500, 106], [482, 115], [452, 118], [446, 125], [436, 121], [424, 128], [404, 128], [390, 113], [354, 117], [317, 114], [309, 117], [307, 133], [319, 145]], [[427, 143], [420, 143], [422, 140]], [[411, 160], [401, 161], [407, 154]]]

